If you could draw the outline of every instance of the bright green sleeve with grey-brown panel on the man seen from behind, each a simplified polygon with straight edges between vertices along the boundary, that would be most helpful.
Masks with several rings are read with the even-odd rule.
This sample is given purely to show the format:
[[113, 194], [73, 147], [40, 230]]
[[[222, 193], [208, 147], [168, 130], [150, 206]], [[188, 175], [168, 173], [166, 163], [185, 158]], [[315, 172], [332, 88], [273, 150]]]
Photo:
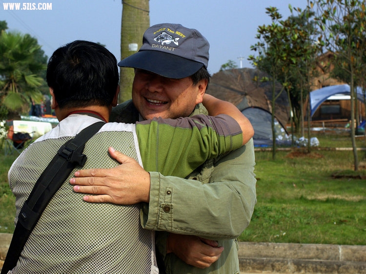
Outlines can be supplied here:
[[164, 176], [188, 176], [207, 159], [242, 146], [238, 123], [225, 115], [156, 118], [136, 124], [136, 133], [143, 168]]

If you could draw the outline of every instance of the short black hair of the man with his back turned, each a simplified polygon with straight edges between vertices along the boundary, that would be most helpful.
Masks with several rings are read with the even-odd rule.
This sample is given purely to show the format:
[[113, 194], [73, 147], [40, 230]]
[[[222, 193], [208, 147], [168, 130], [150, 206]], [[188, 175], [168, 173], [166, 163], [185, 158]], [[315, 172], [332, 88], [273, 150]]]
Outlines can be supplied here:
[[119, 84], [117, 59], [102, 45], [76, 40], [52, 54], [46, 78], [60, 108], [110, 106]]

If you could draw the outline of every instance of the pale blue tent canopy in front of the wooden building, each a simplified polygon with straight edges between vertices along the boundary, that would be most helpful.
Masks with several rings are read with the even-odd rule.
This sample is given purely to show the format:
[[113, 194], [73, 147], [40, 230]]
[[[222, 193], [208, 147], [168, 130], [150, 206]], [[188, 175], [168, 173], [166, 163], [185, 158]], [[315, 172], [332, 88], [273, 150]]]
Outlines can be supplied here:
[[[321, 89], [310, 92], [310, 116], [313, 116], [318, 107], [329, 97], [336, 95], [350, 95], [349, 85], [335, 85], [328, 86]], [[357, 98], [361, 101], [365, 101], [365, 95], [361, 87], [357, 87]]]

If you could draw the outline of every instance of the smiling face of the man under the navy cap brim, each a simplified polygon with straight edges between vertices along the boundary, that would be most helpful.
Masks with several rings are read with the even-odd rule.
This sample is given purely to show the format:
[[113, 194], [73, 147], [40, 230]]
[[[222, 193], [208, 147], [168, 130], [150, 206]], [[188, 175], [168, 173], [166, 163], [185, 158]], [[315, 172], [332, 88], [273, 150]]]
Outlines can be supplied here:
[[165, 78], [136, 69], [132, 101], [144, 119], [187, 117], [202, 102], [206, 86], [207, 80], [193, 85], [190, 77]]

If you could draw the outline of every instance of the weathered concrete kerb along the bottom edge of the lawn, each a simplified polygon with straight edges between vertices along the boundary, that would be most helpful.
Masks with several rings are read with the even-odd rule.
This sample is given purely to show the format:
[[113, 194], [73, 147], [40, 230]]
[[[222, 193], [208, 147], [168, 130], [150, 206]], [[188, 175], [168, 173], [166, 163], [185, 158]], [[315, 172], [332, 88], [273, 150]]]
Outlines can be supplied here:
[[[12, 234], [0, 233], [0, 268]], [[239, 242], [241, 274], [366, 274], [366, 246]]]

